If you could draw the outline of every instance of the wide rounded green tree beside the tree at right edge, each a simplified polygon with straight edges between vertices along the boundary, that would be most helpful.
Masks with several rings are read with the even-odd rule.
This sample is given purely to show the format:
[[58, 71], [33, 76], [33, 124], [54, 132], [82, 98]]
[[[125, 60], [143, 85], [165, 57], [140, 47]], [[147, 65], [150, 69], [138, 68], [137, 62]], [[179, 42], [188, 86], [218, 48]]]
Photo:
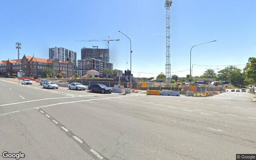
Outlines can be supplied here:
[[238, 78], [242, 78], [241, 70], [235, 66], [228, 66], [218, 71], [218, 80], [230, 81], [231, 84], [237, 85]]

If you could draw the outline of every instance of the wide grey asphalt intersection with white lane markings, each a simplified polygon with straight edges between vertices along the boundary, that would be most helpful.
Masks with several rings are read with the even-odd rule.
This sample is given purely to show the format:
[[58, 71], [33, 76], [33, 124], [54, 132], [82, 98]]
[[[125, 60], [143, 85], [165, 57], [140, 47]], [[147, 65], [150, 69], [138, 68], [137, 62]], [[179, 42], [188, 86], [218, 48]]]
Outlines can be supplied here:
[[[0, 148], [27, 160], [234, 160], [256, 154], [256, 102], [98, 94], [0, 78]], [[0, 156], [0, 159], [4, 159]]]

